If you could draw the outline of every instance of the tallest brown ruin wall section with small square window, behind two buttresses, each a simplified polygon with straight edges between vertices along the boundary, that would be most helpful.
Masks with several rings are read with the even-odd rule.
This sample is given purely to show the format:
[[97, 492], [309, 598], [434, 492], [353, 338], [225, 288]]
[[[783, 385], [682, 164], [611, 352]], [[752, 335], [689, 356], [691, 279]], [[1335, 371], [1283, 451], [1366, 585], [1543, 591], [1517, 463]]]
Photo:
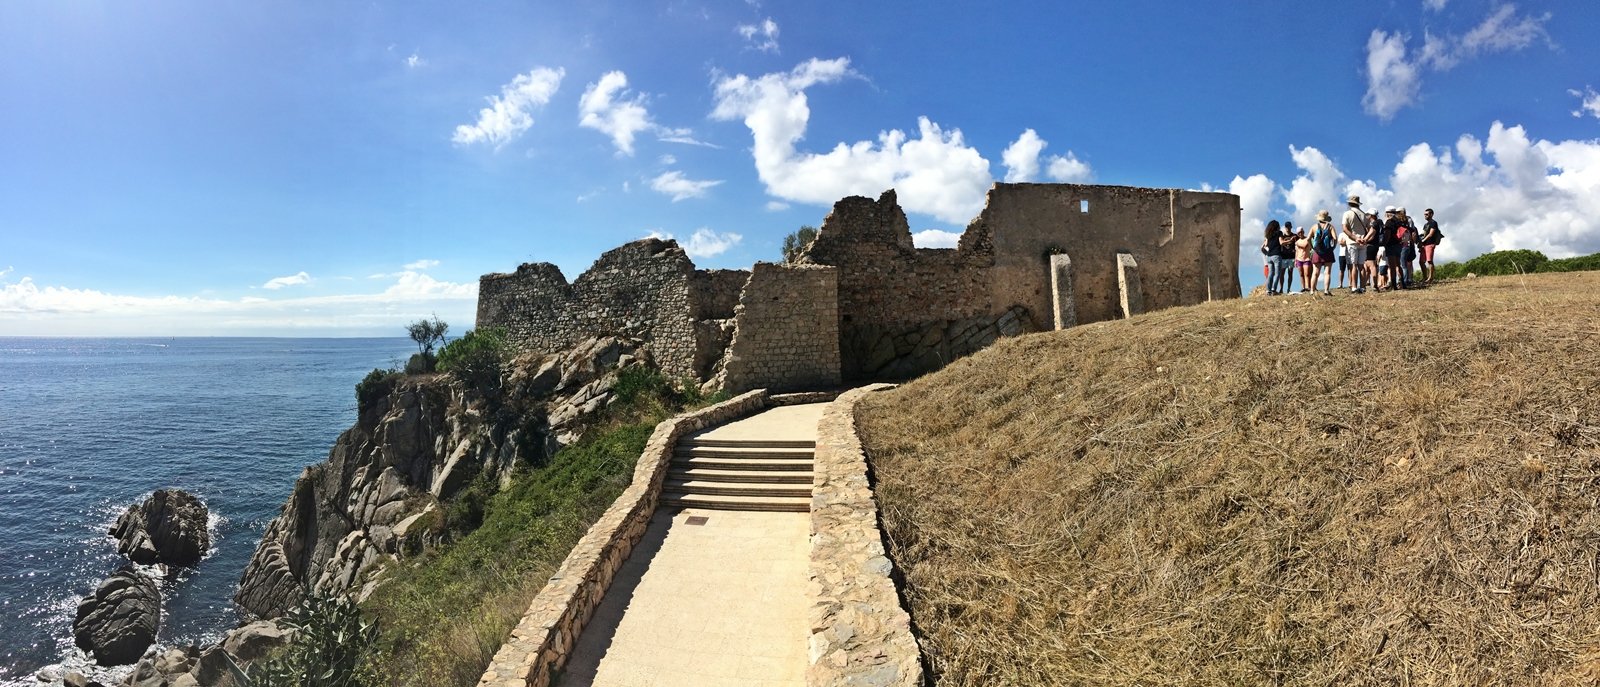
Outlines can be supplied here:
[[[1069, 261], [1053, 261], [1067, 255]], [[1118, 271], [1131, 255], [1138, 272]], [[997, 336], [1238, 296], [1238, 197], [1178, 189], [995, 184], [957, 248], [914, 248], [894, 192], [843, 199], [803, 263], [838, 267], [846, 381], [944, 367]], [[1067, 277], [1053, 279], [1053, 263]], [[1139, 285], [1123, 298], [1120, 283]], [[1062, 293], [1058, 293], [1062, 290]], [[1122, 303], [1134, 303], [1125, 312]]]

